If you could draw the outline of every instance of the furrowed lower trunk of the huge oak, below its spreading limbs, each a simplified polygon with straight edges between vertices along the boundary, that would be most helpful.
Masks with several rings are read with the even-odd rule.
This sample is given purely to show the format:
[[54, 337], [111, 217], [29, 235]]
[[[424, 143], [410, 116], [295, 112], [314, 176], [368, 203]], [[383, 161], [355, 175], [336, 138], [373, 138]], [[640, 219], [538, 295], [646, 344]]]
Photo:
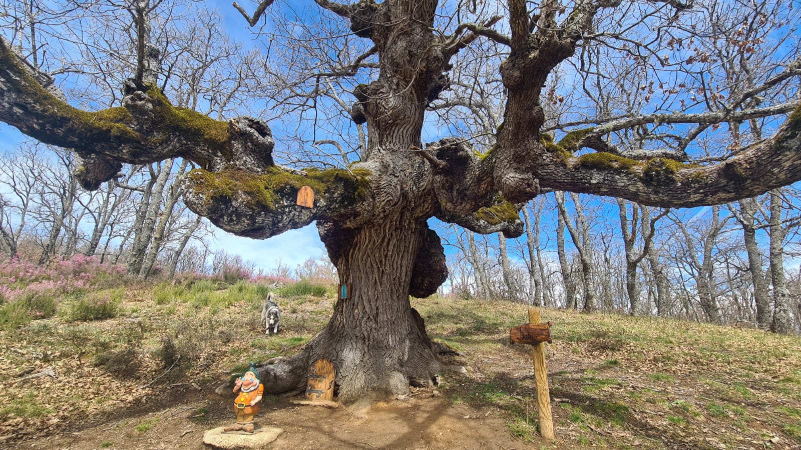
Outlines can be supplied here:
[[[340, 401], [365, 393], [395, 396], [430, 386], [441, 369], [423, 319], [409, 303], [413, 267], [426, 238], [425, 221], [388, 219], [350, 230], [318, 223], [320, 236], [351, 296], [336, 303], [328, 325], [304, 352], [261, 368], [281, 388], [304, 384], [309, 364], [324, 358], [336, 368]], [[268, 385], [268, 384], [265, 384]]]

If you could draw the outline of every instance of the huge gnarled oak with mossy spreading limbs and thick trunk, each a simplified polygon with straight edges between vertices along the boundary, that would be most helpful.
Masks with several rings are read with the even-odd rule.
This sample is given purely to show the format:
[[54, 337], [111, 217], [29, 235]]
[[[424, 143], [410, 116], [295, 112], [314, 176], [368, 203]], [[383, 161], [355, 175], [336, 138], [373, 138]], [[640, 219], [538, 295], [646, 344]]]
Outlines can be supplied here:
[[[315, 2], [369, 42], [359, 58], [316, 75], [373, 70], [369, 82], [352, 90], [349, 111], [353, 122], [366, 124], [366, 147], [360, 161], [344, 170], [278, 166], [272, 132], [263, 121], [245, 116], [217, 121], [173, 106], [156, 84], [159, 52], [149, 42], [147, 0], [127, 3], [138, 57], [119, 107], [87, 111], [70, 106], [54, 78], [0, 37], [0, 120], [43, 143], [72, 149], [82, 162], [78, 176], [83, 187], [96, 189], [115, 178], [123, 163], [178, 157], [197, 167], [187, 176], [184, 201], [223, 230], [266, 239], [316, 221], [340, 282], [352, 286], [352, 295], [336, 303], [328, 325], [300, 354], [260, 366], [272, 391], [304, 384], [309, 365], [319, 358], [334, 363], [343, 400], [433, 383], [441, 370], [440, 348], [429, 340], [423, 319], [409, 303], [409, 295], [433, 294], [447, 275], [443, 247], [429, 218], [516, 237], [523, 231], [516, 205], [545, 190], [693, 207], [751, 197], [801, 179], [799, 102], [749, 102], [799, 74], [799, 64], [774, 70], [734, 109], [588, 119], [583, 122], [593, 127], [558, 142], [545, 132], [544, 97], [553, 92], [545, 93], [544, 86], [557, 66], [574, 58], [586, 42], [600, 40], [625, 42], [618, 48], [635, 60], [651, 58], [649, 42], [661, 39], [660, 27], [680, 23], [692, 4], [509, 0], [505, 14], [481, 17], [481, 2]], [[271, 3], [260, 3], [253, 17], [240, 10], [253, 26]], [[441, 20], [438, 8], [448, 11], [448, 20]], [[598, 30], [599, 14], [610, 12], [618, 29]], [[653, 36], [626, 37], [626, 30], [647, 21], [650, 28], [645, 29]], [[492, 147], [477, 153], [464, 136], [424, 145], [427, 110], [448, 89], [458, 55], [477, 42], [503, 49], [502, 62], [493, 69], [505, 100]], [[687, 163], [685, 149], [700, 134], [694, 130], [794, 109], [770, 138], [702, 165]], [[618, 131], [662, 125], [686, 131], [686, 139], [678, 139], [676, 148], [650, 149], [620, 149], [609, 139]], [[313, 208], [296, 205], [303, 186], [316, 192]]]

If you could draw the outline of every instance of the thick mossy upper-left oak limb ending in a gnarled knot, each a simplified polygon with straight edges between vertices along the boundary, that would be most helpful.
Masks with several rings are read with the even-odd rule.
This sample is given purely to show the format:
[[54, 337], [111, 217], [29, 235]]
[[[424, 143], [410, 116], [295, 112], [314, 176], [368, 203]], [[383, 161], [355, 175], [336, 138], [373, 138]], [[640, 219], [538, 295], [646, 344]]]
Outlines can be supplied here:
[[260, 120], [210, 119], [172, 106], [155, 86], [127, 86], [122, 107], [78, 110], [43, 87], [41, 75], [0, 38], [0, 116], [23, 134], [73, 149], [85, 164], [95, 164], [79, 171], [88, 189], [114, 178], [120, 163], [181, 157], [210, 170], [272, 167], [272, 133]]

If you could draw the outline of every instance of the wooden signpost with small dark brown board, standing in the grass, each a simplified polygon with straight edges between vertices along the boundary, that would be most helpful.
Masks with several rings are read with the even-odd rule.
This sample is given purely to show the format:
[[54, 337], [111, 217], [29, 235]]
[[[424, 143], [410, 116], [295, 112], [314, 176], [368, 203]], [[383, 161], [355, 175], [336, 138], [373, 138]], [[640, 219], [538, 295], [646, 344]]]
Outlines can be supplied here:
[[529, 323], [509, 330], [509, 341], [531, 344], [534, 360], [534, 379], [537, 381], [537, 410], [540, 415], [540, 432], [545, 439], [553, 439], [553, 419], [550, 413], [548, 369], [545, 368], [545, 343], [552, 343], [551, 323], [540, 323], [540, 311], [529, 307]]

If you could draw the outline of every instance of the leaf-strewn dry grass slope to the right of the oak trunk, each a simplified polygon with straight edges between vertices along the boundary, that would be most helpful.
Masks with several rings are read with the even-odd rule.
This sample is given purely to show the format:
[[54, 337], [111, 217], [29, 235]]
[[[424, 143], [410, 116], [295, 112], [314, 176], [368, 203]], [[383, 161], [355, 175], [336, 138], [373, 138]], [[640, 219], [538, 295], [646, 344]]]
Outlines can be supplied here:
[[[536, 389], [528, 321], [514, 303], [421, 300], [429, 332], [467, 352], [453, 401], [494, 405], [533, 440]], [[798, 336], [542, 308], [553, 321], [549, 383], [557, 436], [609, 448], [801, 448]]]

